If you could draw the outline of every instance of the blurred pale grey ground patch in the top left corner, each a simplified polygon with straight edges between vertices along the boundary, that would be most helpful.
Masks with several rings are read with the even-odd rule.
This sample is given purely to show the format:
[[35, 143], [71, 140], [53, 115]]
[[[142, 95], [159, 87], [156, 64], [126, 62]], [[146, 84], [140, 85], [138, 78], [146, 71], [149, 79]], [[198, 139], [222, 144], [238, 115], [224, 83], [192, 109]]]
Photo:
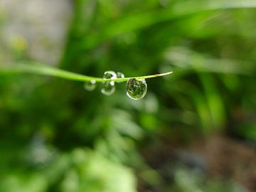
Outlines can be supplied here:
[[33, 60], [58, 63], [68, 33], [71, 9], [68, 0], [1, 0], [1, 15], [6, 18], [1, 26], [1, 47], [4, 46], [8, 53], [19, 46], [27, 50], [28, 57]]

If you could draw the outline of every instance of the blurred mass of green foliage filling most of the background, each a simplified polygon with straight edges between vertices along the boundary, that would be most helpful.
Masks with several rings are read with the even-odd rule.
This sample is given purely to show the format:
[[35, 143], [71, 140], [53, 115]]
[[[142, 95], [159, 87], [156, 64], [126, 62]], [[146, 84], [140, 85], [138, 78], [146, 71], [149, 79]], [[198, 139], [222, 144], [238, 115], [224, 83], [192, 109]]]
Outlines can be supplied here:
[[[216, 131], [255, 144], [255, 7], [252, 0], [73, 1], [56, 68], [0, 64], [0, 191], [132, 192], [140, 180], [162, 191], [240, 188], [183, 168], [166, 184], [141, 150], [150, 138], [186, 143]], [[20, 44], [0, 47], [0, 60], [30, 65]], [[104, 81], [92, 77], [106, 70], [174, 74], [147, 80], [140, 101], [124, 97], [122, 85], [105, 97], [70, 81]], [[25, 71], [69, 80], [17, 74]]]

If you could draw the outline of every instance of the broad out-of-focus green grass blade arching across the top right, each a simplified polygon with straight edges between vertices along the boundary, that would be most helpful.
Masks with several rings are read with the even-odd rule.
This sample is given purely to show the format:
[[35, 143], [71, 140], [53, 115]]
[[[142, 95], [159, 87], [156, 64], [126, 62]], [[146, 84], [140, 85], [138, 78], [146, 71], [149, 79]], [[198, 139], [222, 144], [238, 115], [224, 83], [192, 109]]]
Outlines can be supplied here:
[[217, 1], [182, 1], [165, 9], [130, 14], [119, 18], [113, 23], [108, 23], [102, 30], [90, 33], [82, 40], [82, 47], [85, 49], [93, 48], [107, 39], [114, 38], [122, 33], [135, 31], [146, 26], [154, 25], [162, 21], [174, 18], [181, 18], [191, 14], [201, 13], [202, 11], [216, 11], [220, 9], [242, 9], [255, 8], [256, 1], [252, 0], [217, 0]]

